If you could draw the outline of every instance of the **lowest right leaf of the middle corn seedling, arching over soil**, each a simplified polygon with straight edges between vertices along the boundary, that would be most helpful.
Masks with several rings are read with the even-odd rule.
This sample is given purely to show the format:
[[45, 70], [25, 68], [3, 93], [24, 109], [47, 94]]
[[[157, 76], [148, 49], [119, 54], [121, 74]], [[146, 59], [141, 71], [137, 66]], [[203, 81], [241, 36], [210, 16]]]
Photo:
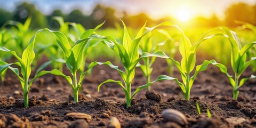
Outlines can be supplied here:
[[[166, 81], [166, 80], [174, 80], [174, 81], [177, 82], [180, 86], [183, 85], [182, 83], [180, 83], [180, 82], [178, 81], [177, 78], [173, 78], [173, 77], [166, 76], [166, 75], [160, 75], [160, 76], [158, 76], [158, 77], [155, 79], [155, 81], [149, 82], [149, 83], [147, 83], [147, 84], [145, 84], [145, 85], [142, 85], [142, 86], [139, 86], [139, 87], [135, 90], [135, 92], [132, 94], [132, 97], [131, 97], [130, 101], [132, 100], [132, 98], [133, 98], [140, 90], [144, 89], [145, 87], [148, 87], [148, 86], [150, 86], [151, 84], [154, 84], [154, 83], [156, 83], [156, 82], [158, 82], [158, 81]], [[181, 88], [182, 91], [185, 90], [185, 88], [183, 88], [183, 87], [184, 87], [184, 86], [182, 86], [182, 88]]]

